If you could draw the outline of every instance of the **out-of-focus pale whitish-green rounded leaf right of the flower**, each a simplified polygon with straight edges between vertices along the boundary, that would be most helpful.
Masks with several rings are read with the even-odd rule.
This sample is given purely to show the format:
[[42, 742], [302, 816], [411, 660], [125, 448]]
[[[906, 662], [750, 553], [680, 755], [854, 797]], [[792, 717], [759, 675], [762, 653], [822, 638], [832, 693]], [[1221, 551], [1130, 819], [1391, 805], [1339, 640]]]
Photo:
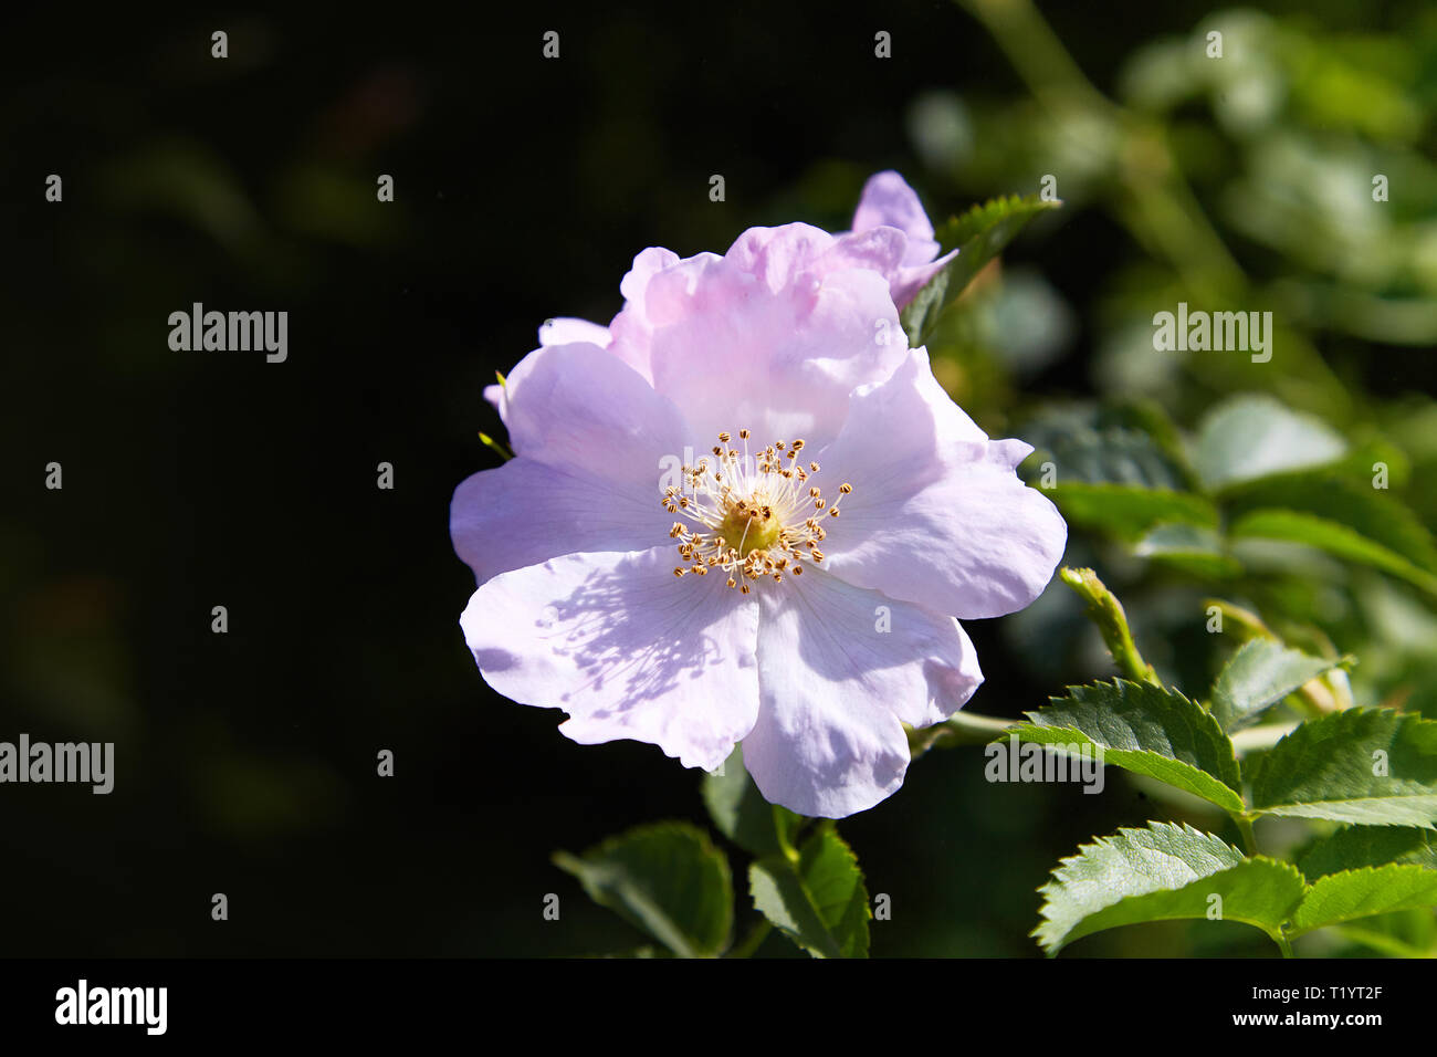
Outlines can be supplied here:
[[1272, 397], [1239, 395], [1198, 427], [1193, 462], [1210, 489], [1339, 459], [1346, 441], [1326, 423]]

